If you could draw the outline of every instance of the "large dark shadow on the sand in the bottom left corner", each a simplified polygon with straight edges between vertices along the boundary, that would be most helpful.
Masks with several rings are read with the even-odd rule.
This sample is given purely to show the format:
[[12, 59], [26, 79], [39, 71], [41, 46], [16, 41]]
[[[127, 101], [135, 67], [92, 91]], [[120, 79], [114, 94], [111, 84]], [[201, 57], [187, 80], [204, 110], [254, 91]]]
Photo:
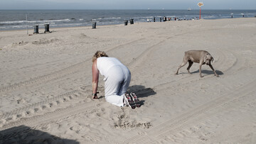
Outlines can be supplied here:
[[16, 126], [0, 131], [0, 143], [71, 143], [78, 144], [76, 140], [59, 138], [28, 126]]

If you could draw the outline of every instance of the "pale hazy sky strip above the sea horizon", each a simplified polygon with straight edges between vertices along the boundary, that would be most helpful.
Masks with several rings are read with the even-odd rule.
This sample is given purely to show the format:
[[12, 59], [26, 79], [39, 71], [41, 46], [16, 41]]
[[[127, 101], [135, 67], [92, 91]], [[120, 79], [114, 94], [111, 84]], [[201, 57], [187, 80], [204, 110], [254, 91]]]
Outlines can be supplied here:
[[4, 9], [256, 9], [256, 0], [0, 0]]

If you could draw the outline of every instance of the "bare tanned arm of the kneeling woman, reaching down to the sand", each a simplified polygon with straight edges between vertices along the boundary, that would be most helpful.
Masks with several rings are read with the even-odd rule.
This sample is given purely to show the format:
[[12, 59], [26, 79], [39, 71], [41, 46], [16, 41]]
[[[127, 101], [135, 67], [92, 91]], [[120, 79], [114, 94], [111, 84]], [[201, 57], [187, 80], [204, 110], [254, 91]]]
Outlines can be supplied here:
[[99, 82], [99, 70], [97, 70], [97, 60], [92, 63], [92, 99], [97, 99], [97, 87]]

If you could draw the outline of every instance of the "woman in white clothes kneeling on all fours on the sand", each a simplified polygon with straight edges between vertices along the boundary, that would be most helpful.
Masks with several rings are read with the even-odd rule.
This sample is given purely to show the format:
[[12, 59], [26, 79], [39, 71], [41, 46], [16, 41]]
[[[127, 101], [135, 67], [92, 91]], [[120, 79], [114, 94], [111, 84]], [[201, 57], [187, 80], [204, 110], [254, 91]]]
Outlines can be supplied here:
[[131, 96], [126, 94], [131, 81], [129, 69], [117, 58], [108, 57], [102, 51], [97, 51], [92, 57], [92, 99], [98, 99], [99, 74], [104, 76], [105, 99], [107, 102], [116, 106], [140, 106], [139, 103], [135, 104], [135, 101], [139, 102], [139, 99], [134, 93]]

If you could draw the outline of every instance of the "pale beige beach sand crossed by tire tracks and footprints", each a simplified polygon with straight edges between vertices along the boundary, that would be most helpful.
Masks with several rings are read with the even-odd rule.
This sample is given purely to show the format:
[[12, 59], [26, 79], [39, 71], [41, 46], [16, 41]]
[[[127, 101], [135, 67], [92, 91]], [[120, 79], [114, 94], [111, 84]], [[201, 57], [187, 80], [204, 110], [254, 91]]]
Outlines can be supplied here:
[[[256, 143], [256, 18], [0, 31], [0, 143]], [[140, 108], [92, 99], [92, 55], [132, 72]], [[207, 50], [174, 74], [186, 50]]]

